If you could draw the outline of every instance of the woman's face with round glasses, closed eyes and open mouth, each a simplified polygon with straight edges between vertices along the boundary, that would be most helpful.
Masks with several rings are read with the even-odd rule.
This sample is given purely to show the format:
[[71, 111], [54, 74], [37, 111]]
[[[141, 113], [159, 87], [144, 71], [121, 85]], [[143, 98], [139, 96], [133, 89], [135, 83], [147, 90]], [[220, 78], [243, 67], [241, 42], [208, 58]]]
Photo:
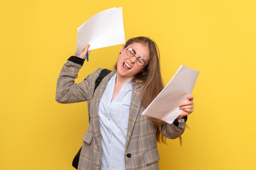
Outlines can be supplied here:
[[[137, 58], [142, 57], [145, 60], [145, 64], [149, 61], [149, 49], [148, 46], [141, 43], [132, 43], [126, 48], [133, 48], [135, 56]], [[137, 58], [135, 56], [130, 57], [126, 54], [126, 48], [121, 48], [121, 54], [117, 59], [117, 76], [121, 78], [133, 78], [136, 74], [143, 71], [145, 66], [139, 66], [136, 63]]]

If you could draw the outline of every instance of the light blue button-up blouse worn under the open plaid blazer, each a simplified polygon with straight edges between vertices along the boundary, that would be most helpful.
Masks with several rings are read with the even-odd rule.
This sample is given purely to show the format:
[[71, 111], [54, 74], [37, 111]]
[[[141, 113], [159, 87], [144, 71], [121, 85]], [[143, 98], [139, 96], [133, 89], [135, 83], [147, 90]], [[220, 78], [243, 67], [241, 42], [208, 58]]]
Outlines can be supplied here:
[[110, 78], [99, 102], [101, 129], [101, 170], [126, 170], [124, 149], [126, 145], [132, 84], [128, 80], [111, 101], [116, 74]]

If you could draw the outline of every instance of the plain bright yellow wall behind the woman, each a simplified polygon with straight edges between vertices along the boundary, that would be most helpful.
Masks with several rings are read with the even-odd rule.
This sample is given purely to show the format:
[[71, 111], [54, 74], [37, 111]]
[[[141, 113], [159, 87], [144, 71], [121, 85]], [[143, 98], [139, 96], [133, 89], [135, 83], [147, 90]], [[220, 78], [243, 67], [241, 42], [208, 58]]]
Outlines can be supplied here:
[[[74, 170], [88, 126], [85, 102], [55, 101], [56, 80], [92, 15], [123, 7], [126, 40], [148, 36], [165, 84], [199, 70], [183, 137], [159, 144], [162, 170], [255, 170], [256, 1], [1, 0], [0, 169]], [[76, 82], [112, 69], [122, 45], [92, 50]]]

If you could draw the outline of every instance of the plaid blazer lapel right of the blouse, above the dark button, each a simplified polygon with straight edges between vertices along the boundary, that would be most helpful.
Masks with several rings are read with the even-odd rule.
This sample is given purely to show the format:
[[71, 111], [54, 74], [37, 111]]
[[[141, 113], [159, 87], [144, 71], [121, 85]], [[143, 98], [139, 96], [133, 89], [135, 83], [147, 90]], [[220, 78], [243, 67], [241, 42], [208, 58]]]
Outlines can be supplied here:
[[130, 141], [130, 137], [132, 135], [132, 131], [136, 122], [137, 115], [139, 113], [139, 109], [141, 106], [141, 85], [133, 86], [132, 87], [132, 98], [130, 102], [130, 113], [129, 113], [129, 121], [128, 121], [128, 129], [127, 129], [127, 137], [126, 137], [126, 148]]

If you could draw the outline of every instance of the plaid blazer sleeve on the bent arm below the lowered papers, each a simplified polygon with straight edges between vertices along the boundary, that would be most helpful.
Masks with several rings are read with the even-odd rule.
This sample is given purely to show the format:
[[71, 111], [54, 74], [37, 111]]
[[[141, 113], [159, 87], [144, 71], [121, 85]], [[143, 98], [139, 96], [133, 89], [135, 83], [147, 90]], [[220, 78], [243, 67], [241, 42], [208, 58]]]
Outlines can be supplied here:
[[180, 135], [182, 135], [182, 133], [185, 130], [185, 127], [180, 128], [173, 123], [168, 124], [165, 122], [162, 125], [158, 125], [158, 129], [160, 130], [162, 135], [164, 135], [165, 137], [169, 139], [175, 139], [177, 137], [180, 137]]

